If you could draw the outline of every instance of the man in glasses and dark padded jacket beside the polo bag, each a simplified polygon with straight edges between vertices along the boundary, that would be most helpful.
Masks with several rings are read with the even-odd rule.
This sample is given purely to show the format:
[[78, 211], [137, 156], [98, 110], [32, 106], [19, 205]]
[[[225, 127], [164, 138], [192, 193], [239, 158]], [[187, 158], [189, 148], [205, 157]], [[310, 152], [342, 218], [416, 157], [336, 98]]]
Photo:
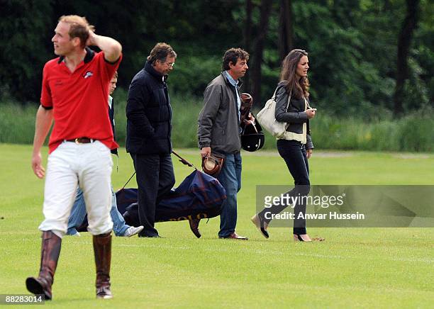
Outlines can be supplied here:
[[157, 43], [128, 90], [126, 150], [133, 158], [139, 220], [145, 227], [139, 237], [160, 237], [154, 227], [155, 208], [175, 183], [166, 80], [176, 58], [170, 45]]

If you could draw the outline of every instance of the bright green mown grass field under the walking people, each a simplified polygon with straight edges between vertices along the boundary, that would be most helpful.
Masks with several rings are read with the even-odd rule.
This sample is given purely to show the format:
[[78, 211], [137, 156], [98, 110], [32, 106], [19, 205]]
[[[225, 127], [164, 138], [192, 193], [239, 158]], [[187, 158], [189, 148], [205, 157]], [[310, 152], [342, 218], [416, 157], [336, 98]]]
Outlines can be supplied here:
[[[196, 150], [177, 150], [199, 166]], [[31, 147], [0, 144], [0, 294], [28, 293], [38, 274], [43, 181], [30, 168]], [[46, 152], [43, 156], [46, 159]], [[175, 160], [175, 158], [174, 158]], [[434, 184], [434, 154], [314, 152], [313, 184]], [[116, 166], [116, 159], [115, 159]], [[113, 186], [133, 172], [121, 150]], [[177, 183], [191, 169], [174, 161]], [[238, 225], [247, 242], [218, 240], [218, 218], [158, 223], [164, 239], [113, 237], [113, 300], [95, 300], [91, 236], [65, 237], [53, 301], [58, 308], [433, 308], [434, 228], [316, 228], [325, 242], [292, 242], [289, 228], [265, 240], [250, 223], [256, 184], [289, 184], [273, 152], [243, 153]], [[130, 186], [135, 186], [133, 181]]]

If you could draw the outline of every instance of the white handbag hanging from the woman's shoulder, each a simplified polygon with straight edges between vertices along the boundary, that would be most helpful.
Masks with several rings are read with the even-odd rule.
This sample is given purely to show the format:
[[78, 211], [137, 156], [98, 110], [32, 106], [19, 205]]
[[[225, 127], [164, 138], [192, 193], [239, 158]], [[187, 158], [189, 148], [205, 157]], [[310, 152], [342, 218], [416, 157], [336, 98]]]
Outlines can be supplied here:
[[[257, 113], [256, 118], [259, 121], [262, 128], [265, 128], [269, 133], [271, 133], [276, 138], [284, 137], [286, 133], [286, 128], [288, 127], [288, 123], [281, 123], [276, 120], [276, 91], [272, 96], [272, 99], [269, 99], [267, 103], [265, 103], [264, 108]], [[288, 110], [289, 101], [291, 100], [291, 94], [288, 96], [288, 104], [286, 105], [286, 111]]]

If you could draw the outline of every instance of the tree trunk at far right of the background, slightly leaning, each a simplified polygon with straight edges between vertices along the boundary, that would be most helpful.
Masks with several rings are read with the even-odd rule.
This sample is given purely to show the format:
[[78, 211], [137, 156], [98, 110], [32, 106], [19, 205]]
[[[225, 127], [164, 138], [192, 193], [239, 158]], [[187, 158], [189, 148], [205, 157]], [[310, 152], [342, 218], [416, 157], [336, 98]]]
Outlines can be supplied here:
[[394, 117], [397, 118], [404, 112], [404, 82], [408, 79], [408, 51], [410, 50], [411, 37], [418, 23], [419, 0], [406, 0], [407, 15], [402, 24], [398, 38], [398, 57], [396, 65], [396, 87], [394, 94]]

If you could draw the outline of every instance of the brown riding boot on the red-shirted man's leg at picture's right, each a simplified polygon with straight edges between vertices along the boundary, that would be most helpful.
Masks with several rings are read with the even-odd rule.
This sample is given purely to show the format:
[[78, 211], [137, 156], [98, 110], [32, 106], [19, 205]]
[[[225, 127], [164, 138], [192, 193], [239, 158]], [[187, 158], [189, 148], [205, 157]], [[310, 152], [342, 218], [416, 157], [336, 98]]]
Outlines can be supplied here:
[[94, 235], [96, 298], [113, 298], [110, 291], [111, 232]]

